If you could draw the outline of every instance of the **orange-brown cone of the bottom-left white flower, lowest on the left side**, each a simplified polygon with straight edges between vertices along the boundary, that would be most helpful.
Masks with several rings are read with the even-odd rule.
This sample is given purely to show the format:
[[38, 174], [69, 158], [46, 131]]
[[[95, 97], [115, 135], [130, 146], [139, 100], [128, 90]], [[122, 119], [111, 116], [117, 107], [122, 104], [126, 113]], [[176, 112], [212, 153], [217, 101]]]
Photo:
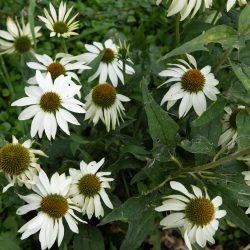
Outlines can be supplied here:
[[68, 201], [62, 195], [50, 194], [41, 201], [41, 211], [54, 219], [63, 217], [68, 209]]

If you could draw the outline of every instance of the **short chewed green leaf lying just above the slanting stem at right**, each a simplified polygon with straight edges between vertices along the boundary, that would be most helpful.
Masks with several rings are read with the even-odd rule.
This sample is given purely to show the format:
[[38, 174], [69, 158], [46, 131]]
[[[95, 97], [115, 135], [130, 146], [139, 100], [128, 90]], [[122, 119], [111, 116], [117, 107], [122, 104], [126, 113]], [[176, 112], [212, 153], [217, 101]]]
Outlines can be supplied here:
[[204, 136], [197, 136], [190, 140], [183, 140], [181, 147], [193, 154], [210, 154], [214, 151], [213, 144]]

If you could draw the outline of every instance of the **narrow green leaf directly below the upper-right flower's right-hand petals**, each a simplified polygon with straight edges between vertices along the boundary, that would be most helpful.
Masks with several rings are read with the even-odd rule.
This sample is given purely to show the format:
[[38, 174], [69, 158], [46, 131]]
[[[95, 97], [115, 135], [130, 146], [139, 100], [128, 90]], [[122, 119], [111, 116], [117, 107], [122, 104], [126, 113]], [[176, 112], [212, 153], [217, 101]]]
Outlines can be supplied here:
[[199, 127], [205, 125], [224, 112], [225, 101], [219, 98], [216, 102], [208, 107], [208, 109], [197, 119], [192, 122], [192, 127]]

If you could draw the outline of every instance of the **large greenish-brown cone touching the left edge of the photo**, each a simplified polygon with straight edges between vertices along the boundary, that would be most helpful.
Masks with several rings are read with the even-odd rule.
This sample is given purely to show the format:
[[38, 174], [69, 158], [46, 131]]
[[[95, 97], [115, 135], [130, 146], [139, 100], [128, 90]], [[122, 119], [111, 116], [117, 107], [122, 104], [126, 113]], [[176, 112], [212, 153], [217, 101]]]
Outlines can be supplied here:
[[23, 173], [30, 164], [29, 150], [21, 144], [7, 144], [0, 149], [0, 169], [9, 175]]

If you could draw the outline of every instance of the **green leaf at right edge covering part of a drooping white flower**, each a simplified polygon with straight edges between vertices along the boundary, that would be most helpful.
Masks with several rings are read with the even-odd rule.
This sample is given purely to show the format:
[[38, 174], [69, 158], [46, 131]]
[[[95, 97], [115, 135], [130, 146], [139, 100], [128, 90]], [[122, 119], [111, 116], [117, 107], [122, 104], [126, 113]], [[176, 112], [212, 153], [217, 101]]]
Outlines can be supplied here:
[[244, 149], [250, 146], [250, 115], [246, 112], [240, 112], [236, 117], [238, 147]]

